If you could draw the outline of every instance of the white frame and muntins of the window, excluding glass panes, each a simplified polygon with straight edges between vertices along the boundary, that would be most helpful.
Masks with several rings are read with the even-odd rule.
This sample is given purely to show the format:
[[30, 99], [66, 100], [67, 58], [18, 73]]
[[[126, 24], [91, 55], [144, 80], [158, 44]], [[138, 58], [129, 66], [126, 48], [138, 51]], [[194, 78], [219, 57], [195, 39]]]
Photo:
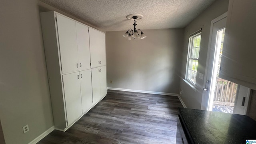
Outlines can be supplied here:
[[[199, 45], [199, 50], [198, 50], [198, 58], [192, 58], [192, 49], [193, 48], [196, 48], [196, 47], [193, 47], [193, 44], [194, 44], [194, 38], [201, 35], [201, 38], [200, 38], [200, 45]], [[187, 62], [186, 62], [186, 76], [185, 76], [185, 80], [193, 86], [196, 85], [196, 78], [197, 78], [197, 74], [198, 74], [198, 67], [196, 67], [196, 70], [193, 70], [195, 72], [194, 76], [195, 76], [195, 79], [194, 81], [190, 78], [188, 78], [188, 75], [189, 75], [189, 70], [192, 70], [190, 69], [190, 67], [192, 67], [190, 65], [190, 60], [196, 60], [197, 61], [197, 65], [198, 65], [198, 62], [199, 62], [199, 56], [200, 56], [200, 47], [201, 47], [201, 40], [202, 40], [202, 30], [199, 30], [193, 34], [191, 34], [189, 36], [189, 42], [188, 42], [188, 55], [187, 55]]]

